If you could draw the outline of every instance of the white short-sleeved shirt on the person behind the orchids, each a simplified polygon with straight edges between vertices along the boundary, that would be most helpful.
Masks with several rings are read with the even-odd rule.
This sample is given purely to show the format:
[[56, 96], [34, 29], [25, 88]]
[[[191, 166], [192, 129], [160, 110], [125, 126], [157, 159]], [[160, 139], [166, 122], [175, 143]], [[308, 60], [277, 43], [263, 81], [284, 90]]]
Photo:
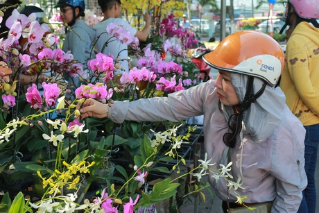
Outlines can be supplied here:
[[[109, 35], [106, 32], [106, 28], [107, 25], [110, 23], [114, 23], [114, 24], [118, 24], [123, 26], [124, 30], [127, 30], [130, 32], [131, 35], [135, 35], [137, 33], [137, 29], [130, 26], [130, 24], [128, 24], [128, 22], [126, 22], [126, 20], [124, 19], [119, 19], [119, 18], [109, 18], [103, 22], [98, 22], [98, 24], [96, 24], [93, 28], [96, 30], [96, 36], [100, 36], [95, 44], [95, 48], [96, 51], [98, 51], [98, 53], [102, 52], [103, 46], [105, 44], [105, 42], [107, 42], [107, 40], [110, 39], [110, 37], [112, 37], [112, 35]], [[110, 42], [112, 41], [112, 42]], [[104, 50], [103, 50], [103, 54], [107, 55], [110, 53], [112, 54], [112, 56], [118, 59], [128, 59], [128, 45], [126, 43], [121, 43], [118, 40], [116, 40], [115, 38], [111, 38], [110, 41], [107, 43], [107, 46], [105, 46]], [[124, 51], [121, 51], [125, 49]], [[118, 56], [119, 52], [121, 51], [120, 55]], [[120, 61], [120, 65], [121, 67], [123, 67], [123, 69], [128, 72], [128, 60], [123, 60]], [[114, 71], [114, 74], [123, 74], [123, 71], [121, 71], [120, 69], [117, 69], [117, 71]]]

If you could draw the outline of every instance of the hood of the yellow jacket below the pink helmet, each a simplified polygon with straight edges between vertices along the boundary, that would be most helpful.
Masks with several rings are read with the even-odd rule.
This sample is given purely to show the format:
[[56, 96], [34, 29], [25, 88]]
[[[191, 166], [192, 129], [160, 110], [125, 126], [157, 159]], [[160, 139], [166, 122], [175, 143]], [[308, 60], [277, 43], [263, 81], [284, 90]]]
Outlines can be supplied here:
[[[297, 30], [298, 29], [298, 30]], [[311, 40], [313, 43], [317, 44], [319, 46], [319, 40], [316, 36], [319, 34], [319, 28], [316, 28], [312, 24], [308, 22], [300, 22], [296, 27], [293, 33], [291, 33], [291, 37], [293, 35], [302, 35], [304, 37], [307, 37], [309, 40]]]

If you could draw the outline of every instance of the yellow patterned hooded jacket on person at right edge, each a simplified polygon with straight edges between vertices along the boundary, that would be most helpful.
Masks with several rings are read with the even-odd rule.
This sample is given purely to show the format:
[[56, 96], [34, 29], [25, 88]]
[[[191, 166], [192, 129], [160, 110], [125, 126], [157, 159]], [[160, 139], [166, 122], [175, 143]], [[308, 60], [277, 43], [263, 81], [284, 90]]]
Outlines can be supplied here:
[[319, 123], [319, 28], [307, 22], [296, 26], [286, 45], [280, 87], [304, 126]]

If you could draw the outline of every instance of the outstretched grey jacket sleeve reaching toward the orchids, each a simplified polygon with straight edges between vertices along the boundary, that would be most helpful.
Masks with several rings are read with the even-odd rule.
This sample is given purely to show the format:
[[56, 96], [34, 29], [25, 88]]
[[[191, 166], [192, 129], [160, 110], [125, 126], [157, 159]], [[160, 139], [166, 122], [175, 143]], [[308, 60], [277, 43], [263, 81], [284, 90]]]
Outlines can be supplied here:
[[109, 108], [108, 118], [117, 123], [131, 121], [181, 121], [203, 114], [203, 101], [209, 94], [211, 81], [188, 90], [169, 94], [168, 97], [115, 101]]

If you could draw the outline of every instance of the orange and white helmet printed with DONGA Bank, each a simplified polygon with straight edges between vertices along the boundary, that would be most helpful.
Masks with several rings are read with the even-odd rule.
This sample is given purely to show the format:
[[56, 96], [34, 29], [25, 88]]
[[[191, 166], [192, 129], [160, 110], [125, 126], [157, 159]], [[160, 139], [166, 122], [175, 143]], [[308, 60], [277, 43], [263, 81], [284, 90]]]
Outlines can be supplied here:
[[266, 33], [237, 31], [203, 56], [207, 65], [266, 80], [276, 85], [284, 67], [282, 47]]

